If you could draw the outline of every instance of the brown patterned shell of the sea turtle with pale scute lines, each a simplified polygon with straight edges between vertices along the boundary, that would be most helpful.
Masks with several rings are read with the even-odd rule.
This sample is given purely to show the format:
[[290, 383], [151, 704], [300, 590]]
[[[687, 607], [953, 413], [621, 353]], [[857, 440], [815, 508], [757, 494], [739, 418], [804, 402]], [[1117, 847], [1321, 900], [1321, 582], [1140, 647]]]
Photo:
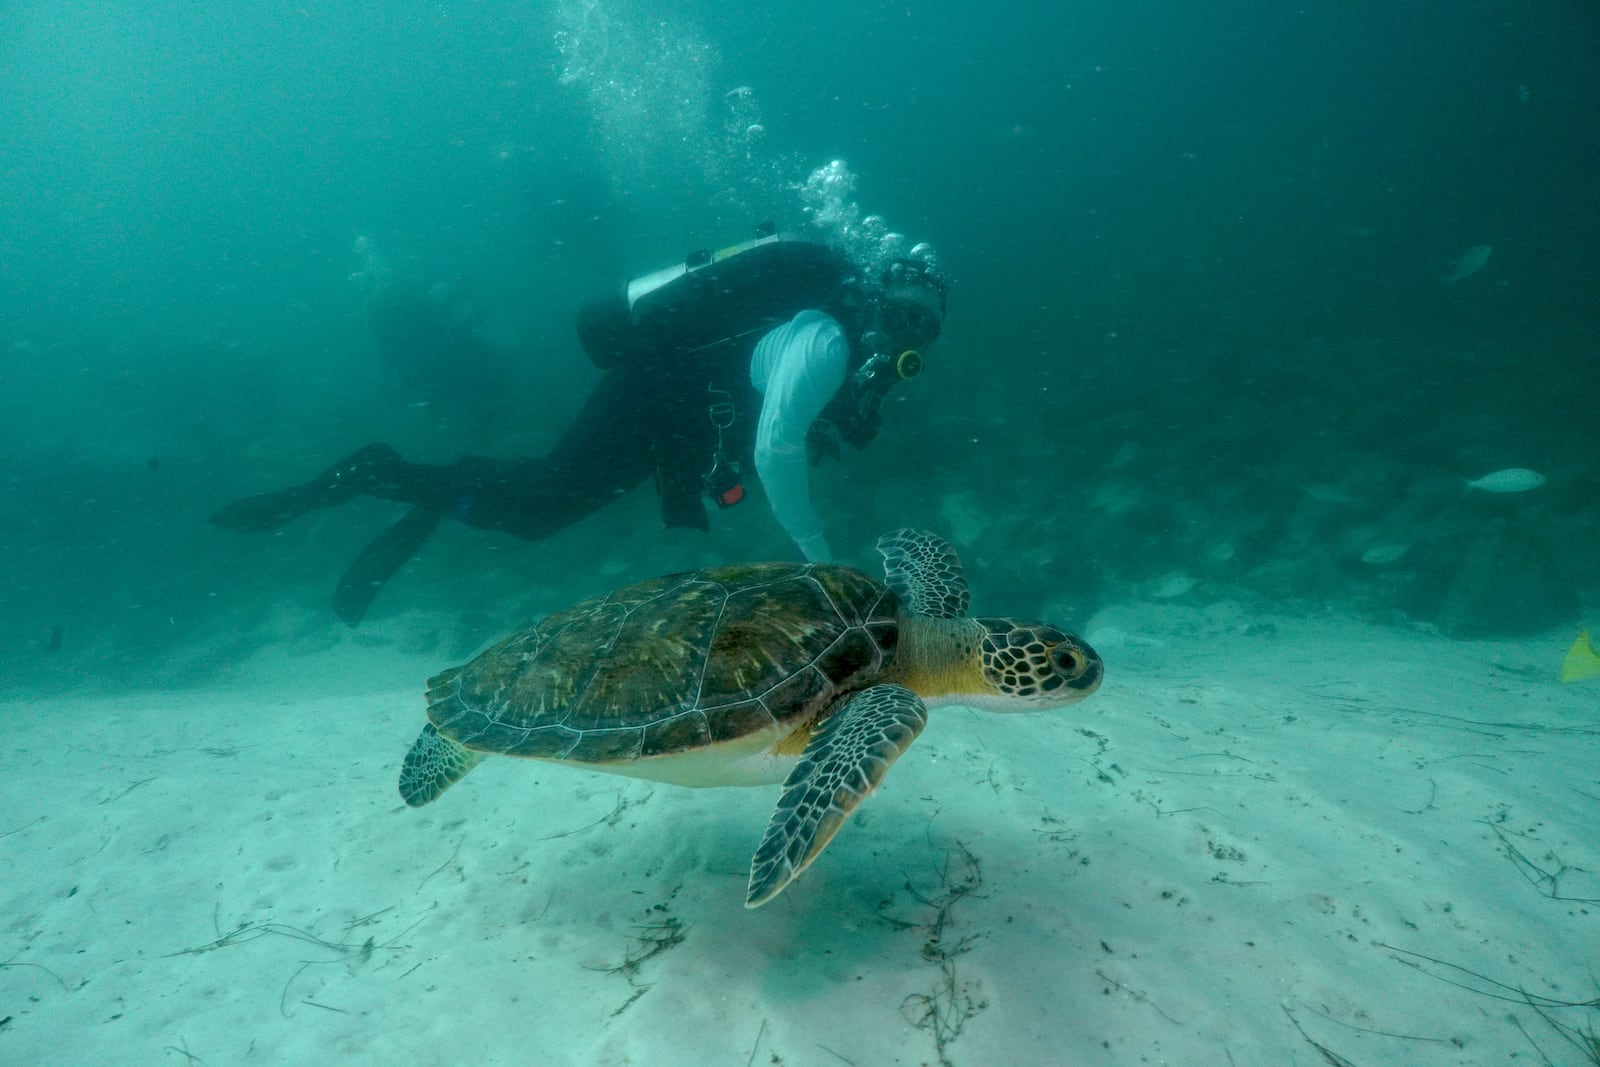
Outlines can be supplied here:
[[670, 755], [814, 715], [894, 653], [896, 598], [861, 571], [752, 563], [595, 597], [429, 681], [429, 720], [480, 752]]

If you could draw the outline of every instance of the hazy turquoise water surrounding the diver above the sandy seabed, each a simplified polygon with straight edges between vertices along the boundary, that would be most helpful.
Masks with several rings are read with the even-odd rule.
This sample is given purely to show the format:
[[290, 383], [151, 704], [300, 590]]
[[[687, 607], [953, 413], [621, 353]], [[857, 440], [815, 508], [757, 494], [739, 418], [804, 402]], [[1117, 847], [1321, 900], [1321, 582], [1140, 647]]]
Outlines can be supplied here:
[[[419, 691], [579, 597], [789, 558], [760, 498], [701, 534], [643, 488], [541, 544], [446, 523], [349, 632], [395, 506], [206, 517], [374, 440], [536, 454], [595, 379], [586, 294], [867, 214], [952, 288], [880, 438], [816, 470], [845, 561], [922, 526], [989, 611], [1338, 616], [1552, 670], [1600, 624], [1594, 5], [370, 6], [0, 18], [5, 693], [147, 704], [262, 649], [355, 649], [341, 691], [390, 649]], [[374, 250], [491, 362], [397, 384]], [[1542, 482], [1467, 485], [1510, 469]]]

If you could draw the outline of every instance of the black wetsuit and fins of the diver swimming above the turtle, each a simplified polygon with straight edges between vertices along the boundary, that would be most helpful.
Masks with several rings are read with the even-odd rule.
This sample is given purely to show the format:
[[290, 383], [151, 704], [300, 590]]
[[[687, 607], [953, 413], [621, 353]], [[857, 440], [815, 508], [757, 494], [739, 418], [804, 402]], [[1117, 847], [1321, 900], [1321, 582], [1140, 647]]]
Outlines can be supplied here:
[[[344, 574], [334, 609], [350, 625], [446, 517], [538, 541], [653, 477], [667, 526], [707, 530], [704, 477], [718, 443], [752, 466], [762, 403], [750, 384], [755, 344], [797, 312], [830, 304], [848, 274], [837, 253], [805, 242], [763, 245], [758, 254], [741, 254], [739, 267], [736, 275], [696, 269], [653, 304], [613, 298], [605, 339], [616, 344], [606, 354], [595, 350], [581, 317], [586, 347], [610, 370], [544, 456], [464, 456], [434, 466], [368, 445], [304, 485], [234, 501], [211, 522], [267, 531], [355, 496], [411, 504]], [[682, 299], [685, 291], [707, 299]], [[731, 419], [728, 408], [714, 418], [714, 405], [731, 405]]]

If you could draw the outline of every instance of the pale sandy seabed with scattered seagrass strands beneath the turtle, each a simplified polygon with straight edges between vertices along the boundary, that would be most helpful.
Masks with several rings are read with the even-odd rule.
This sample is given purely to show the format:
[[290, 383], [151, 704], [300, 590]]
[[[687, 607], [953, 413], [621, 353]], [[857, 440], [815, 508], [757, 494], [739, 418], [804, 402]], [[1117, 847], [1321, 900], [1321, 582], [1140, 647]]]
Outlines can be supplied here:
[[938, 710], [755, 912], [776, 787], [490, 760], [405, 808], [448, 662], [403, 641], [11, 702], [0, 1061], [1595, 1062], [1600, 680], [1555, 681], [1571, 633], [1139, 605], [1085, 630], [1098, 694]]

